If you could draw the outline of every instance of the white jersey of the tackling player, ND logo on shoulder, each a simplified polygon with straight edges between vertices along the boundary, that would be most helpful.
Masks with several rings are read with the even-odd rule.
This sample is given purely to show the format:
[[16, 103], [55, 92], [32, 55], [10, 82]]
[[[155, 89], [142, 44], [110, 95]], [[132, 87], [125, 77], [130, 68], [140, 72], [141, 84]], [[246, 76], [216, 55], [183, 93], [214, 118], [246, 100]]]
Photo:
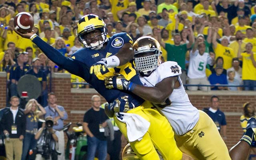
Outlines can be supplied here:
[[158, 110], [168, 119], [176, 135], [187, 133], [194, 128], [199, 119], [198, 109], [190, 103], [188, 94], [186, 94], [180, 80], [180, 75], [181, 68], [178, 63], [167, 61], [160, 64], [150, 76], [140, 76], [142, 84], [149, 87], [155, 86], [158, 82], [164, 80], [164, 78], [178, 76], [181, 86], [173, 90], [165, 104], [160, 104], [166, 107], [160, 108], [159, 104], [155, 104]]

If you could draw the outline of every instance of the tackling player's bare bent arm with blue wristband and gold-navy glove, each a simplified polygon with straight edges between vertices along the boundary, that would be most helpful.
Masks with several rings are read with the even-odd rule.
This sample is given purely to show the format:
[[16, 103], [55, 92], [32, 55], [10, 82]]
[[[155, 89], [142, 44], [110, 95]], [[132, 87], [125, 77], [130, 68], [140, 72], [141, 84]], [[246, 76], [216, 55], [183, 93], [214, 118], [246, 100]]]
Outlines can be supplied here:
[[128, 90], [144, 100], [153, 103], [164, 102], [175, 87], [177, 76], [164, 78], [161, 82], [157, 83], [154, 87], [146, 87], [138, 85], [126, 80], [123, 76], [108, 77], [105, 80], [106, 88], [117, 88], [120, 90]]

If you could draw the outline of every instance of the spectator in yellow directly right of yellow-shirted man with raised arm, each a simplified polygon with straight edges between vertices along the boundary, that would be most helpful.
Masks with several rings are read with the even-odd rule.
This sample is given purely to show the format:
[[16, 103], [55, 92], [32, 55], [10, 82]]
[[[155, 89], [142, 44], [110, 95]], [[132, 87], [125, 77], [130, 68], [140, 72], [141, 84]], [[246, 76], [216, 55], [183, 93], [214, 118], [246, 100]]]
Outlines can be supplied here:
[[[238, 30], [236, 32], [236, 40], [234, 40], [233, 42], [231, 42], [229, 44], [229, 47], [233, 49], [234, 54], [237, 55], [238, 54], [238, 50], [240, 51], [240, 53], [242, 53], [245, 50], [245, 45], [246, 43], [242, 41], [243, 39], [243, 34], [240, 30]], [[239, 49], [239, 45], [238, 45], [238, 41], [242, 41], [241, 42], [241, 48]]]

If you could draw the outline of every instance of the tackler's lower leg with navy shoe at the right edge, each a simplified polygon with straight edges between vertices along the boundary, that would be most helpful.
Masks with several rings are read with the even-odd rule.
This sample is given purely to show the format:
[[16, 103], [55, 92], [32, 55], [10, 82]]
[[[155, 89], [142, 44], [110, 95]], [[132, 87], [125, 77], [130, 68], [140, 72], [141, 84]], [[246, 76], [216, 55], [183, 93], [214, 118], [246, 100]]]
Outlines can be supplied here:
[[256, 119], [250, 118], [247, 122], [246, 132], [240, 142], [233, 146], [230, 151], [232, 160], [247, 160], [252, 142], [255, 141]]

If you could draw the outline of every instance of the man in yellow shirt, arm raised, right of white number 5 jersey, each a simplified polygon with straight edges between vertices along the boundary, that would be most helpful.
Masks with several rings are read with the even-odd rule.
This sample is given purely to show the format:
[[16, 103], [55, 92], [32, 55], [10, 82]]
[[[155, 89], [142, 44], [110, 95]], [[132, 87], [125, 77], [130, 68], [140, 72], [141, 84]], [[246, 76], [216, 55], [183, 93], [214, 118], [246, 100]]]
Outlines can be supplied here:
[[212, 48], [215, 52], [215, 58], [219, 56], [224, 60], [224, 69], [228, 69], [232, 66], [232, 59], [236, 56], [232, 48], [228, 47], [228, 37], [223, 36], [220, 39], [220, 44], [216, 41], [218, 28], [213, 28], [213, 36], [212, 36]]

